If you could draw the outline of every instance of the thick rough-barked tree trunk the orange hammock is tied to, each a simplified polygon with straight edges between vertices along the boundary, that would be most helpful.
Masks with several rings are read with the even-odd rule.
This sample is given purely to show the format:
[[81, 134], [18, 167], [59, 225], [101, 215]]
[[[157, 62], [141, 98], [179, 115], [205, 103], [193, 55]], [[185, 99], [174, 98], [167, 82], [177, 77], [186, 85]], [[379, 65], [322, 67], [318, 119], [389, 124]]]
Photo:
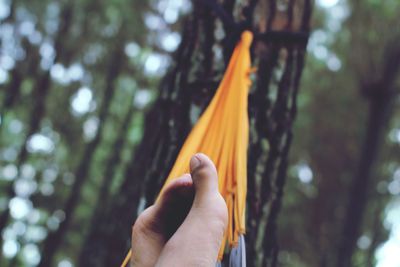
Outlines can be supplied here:
[[[256, 3], [250, 1], [242, 10], [247, 12], [244, 16], [247, 21], [236, 27], [252, 25]], [[276, 9], [275, 1], [268, 3]], [[251, 241], [248, 242], [248, 249], [252, 254], [248, 257], [249, 266], [256, 265], [256, 261], [258, 266], [274, 266], [276, 262], [274, 232], [286, 176], [291, 127], [296, 114], [296, 96], [311, 14], [311, 1], [302, 3], [294, 7], [294, 1], [290, 1], [287, 8], [289, 15], [283, 26], [274, 24], [274, 18], [266, 16], [266, 21], [275, 26], [269, 25], [268, 33], [256, 34], [253, 46], [262, 46], [264, 50], [252, 51], [254, 62], [259, 63], [256, 88], [249, 104], [252, 122], [248, 194], [251, 203], [248, 224], [248, 239]], [[229, 15], [235, 13], [236, 6], [232, 1], [224, 1], [224, 4], [224, 10], [229, 11]], [[293, 22], [294, 15], [290, 15], [294, 9], [296, 14], [300, 14], [300, 18], [296, 18], [297, 23]], [[138, 209], [150, 205], [158, 194], [192, 126], [191, 112], [195, 108], [203, 110], [215, 92], [217, 82], [210, 78], [216, 71], [221, 75], [224, 69], [217, 67], [211, 59], [215, 56], [211, 49], [218, 42], [210, 33], [215, 30], [211, 11], [206, 6], [195, 4], [193, 12], [185, 24], [182, 42], [175, 55], [175, 66], [162, 81], [159, 99], [146, 116], [144, 138], [126, 170], [119, 193], [103, 210], [101, 220], [90, 230], [84, 248], [85, 259], [80, 266], [115, 266], [122, 262], [130, 246], [131, 226]], [[261, 15], [265, 16], [265, 12], [261, 11]], [[267, 13], [271, 16], [274, 12]], [[235, 44], [235, 36], [231, 34], [238, 35], [241, 28], [225, 29], [230, 29], [226, 40], [233, 43], [222, 42], [222, 45], [230, 51], [229, 46]], [[277, 70], [283, 70], [283, 75], [276, 77]], [[276, 97], [271, 98], [271, 94]], [[263, 169], [261, 173], [257, 172], [260, 166]], [[257, 186], [260, 184], [261, 190]], [[259, 247], [255, 247], [255, 241], [259, 242]], [[255, 255], [260, 257], [252, 257]]]

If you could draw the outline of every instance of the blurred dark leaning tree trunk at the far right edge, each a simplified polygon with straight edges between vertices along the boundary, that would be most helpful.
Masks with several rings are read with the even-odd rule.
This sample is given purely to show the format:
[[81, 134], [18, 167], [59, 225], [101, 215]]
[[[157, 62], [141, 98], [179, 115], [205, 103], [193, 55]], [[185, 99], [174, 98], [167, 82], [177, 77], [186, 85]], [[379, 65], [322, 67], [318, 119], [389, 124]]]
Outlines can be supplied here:
[[372, 82], [365, 82], [362, 92], [368, 99], [366, 135], [362, 144], [360, 161], [350, 185], [348, 205], [343, 218], [342, 234], [339, 240], [336, 266], [351, 266], [351, 258], [360, 235], [362, 219], [367, 205], [367, 194], [378, 158], [379, 145], [392, 113], [396, 92], [395, 81], [400, 69], [400, 38], [393, 39], [385, 50], [382, 73]]

